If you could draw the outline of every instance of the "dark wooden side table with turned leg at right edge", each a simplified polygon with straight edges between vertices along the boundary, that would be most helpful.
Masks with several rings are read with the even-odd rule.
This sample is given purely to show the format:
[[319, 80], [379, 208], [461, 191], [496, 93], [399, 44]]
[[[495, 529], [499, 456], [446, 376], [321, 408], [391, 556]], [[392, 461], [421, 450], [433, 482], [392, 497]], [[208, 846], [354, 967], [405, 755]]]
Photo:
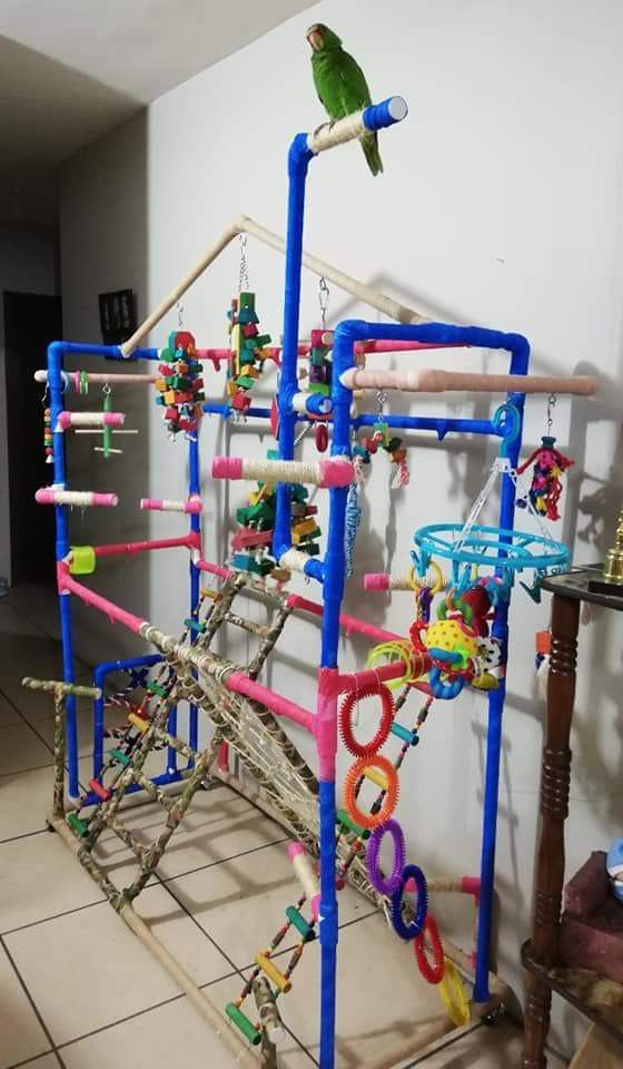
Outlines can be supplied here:
[[[544, 580], [551, 591], [552, 653], [547, 683], [547, 723], [541, 782], [541, 834], [534, 877], [532, 939], [522, 947], [527, 972], [523, 1069], [545, 1069], [552, 991], [562, 996], [623, 1042], [623, 984], [558, 960], [571, 776], [570, 735], [575, 696], [580, 607], [592, 601], [623, 610], [623, 597], [594, 594], [589, 580], [601, 568], [586, 568]], [[622, 1050], [623, 1061], [623, 1050]]]

